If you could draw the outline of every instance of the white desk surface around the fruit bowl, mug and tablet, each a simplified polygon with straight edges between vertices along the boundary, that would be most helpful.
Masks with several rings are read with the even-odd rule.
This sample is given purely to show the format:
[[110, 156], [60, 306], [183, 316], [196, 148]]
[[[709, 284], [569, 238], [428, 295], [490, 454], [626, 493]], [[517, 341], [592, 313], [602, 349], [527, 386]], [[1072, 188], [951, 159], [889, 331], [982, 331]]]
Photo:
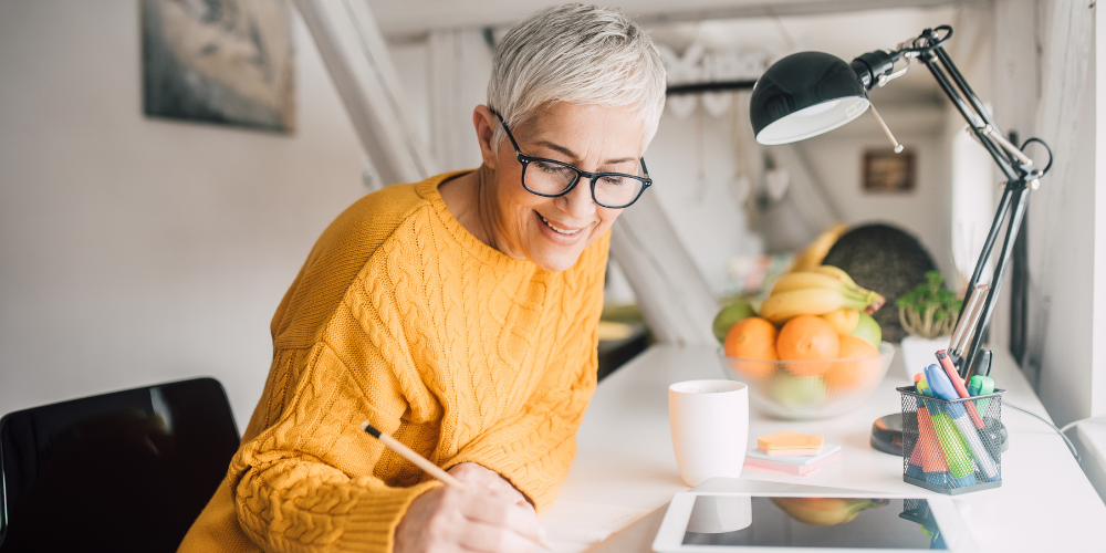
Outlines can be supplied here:
[[[1009, 354], [994, 352], [991, 376], [1008, 390], [1004, 404], [1047, 418]], [[668, 385], [698, 378], [723, 378], [714, 348], [654, 346], [599, 384], [576, 435], [576, 460], [557, 501], [655, 510], [668, 503], [674, 493], [686, 491], [669, 436]], [[784, 421], [752, 411], [750, 448], [755, 447], [758, 436], [779, 430], [817, 432], [825, 435], [826, 441], [842, 445], [842, 461], [808, 477], [747, 469], [742, 480], [932, 495], [902, 481], [900, 457], [868, 445], [872, 422], [900, 410], [895, 388], [909, 384], [896, 361], [867, 404], [849, 415]], [[1010, 431], [1010, 449], [1002, 455], [1002, 487], [956, 497], [981, 550], [1106, 550], [1106, 505], [1060, 436], [1013, 409], [1004, 408], [1002, 418]], [[645, 543], [640, 551], [649, 551], [651, 535], [639, 538], [634, 543]]]

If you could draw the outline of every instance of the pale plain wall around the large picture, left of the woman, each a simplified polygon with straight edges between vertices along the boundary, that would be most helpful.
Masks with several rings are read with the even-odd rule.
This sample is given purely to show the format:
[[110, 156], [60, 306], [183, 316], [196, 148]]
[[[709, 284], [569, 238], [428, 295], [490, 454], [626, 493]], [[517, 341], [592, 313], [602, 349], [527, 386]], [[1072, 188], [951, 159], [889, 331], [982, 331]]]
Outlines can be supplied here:
[[243, 429], [361, 149], [299, 19], [294, 134], [144, 117], [138, 4], [0, 1], [0, 413], [211, 375]]

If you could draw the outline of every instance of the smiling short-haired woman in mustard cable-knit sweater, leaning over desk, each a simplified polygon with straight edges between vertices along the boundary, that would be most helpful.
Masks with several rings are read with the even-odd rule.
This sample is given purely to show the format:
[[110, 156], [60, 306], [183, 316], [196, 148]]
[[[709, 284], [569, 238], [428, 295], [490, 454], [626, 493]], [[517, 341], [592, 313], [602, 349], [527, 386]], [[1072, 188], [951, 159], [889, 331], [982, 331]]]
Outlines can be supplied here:
[[180, 551], [532, 551], [595, 388], [607, 230], [650, 182], [664, 86], [622, 14], [570, 4], [515, 27], [472, 115], [482, 166], [371, 194], [315, 244]]

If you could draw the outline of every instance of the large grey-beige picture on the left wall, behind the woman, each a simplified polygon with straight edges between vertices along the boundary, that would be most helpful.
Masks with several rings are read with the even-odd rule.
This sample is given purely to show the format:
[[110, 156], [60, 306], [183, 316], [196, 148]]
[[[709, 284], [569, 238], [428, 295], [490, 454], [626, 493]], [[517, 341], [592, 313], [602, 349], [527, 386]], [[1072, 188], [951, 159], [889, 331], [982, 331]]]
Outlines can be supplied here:
[[295, 129], [286, 0], [142, 0], [142, 45], [146, 115]]

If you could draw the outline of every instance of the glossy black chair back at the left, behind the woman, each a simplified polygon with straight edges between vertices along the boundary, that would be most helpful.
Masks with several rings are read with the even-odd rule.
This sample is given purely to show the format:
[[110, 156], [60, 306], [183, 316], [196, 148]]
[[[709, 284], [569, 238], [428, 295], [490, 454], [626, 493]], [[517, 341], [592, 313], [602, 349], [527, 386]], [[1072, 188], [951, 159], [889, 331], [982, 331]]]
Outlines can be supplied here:
[[0, 553], [175, 552], [239, 436], [211, 378], [0, 418]]

